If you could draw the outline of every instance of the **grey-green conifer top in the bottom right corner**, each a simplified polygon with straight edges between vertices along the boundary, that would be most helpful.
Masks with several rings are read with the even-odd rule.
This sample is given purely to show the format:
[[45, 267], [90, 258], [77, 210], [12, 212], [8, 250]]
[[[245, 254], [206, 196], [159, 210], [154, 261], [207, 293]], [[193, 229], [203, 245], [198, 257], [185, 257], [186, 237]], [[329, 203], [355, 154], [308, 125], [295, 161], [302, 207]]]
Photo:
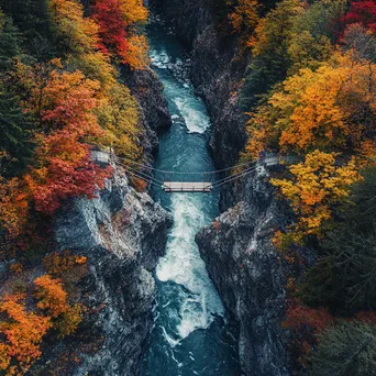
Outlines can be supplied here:
[[343, 321], [327, 330], [312, 356], [310, 375], [376, 375], [375, 325]]

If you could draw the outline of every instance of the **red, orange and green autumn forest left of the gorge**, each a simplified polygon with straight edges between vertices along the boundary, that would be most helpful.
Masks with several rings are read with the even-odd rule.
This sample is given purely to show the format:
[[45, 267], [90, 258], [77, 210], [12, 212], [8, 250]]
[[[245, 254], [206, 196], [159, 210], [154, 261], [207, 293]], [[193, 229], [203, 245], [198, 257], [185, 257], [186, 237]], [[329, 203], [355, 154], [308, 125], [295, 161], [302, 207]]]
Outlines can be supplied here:
[[[47, 254], [51, 217], [69, 198], [95, 197], [111, 176], [90, 145], [143, 153], [139, 104], [122, 75], [148, 64], [146, 19], [140, 0], [0, 2], [0, 259], [12, 262], [1, 288], [0, 374], [24, 375], [46, 334], [64, 338], [81, 321], [71, 290], [86, 257]], [[32, 279], [38, 263], [45, 274]]]

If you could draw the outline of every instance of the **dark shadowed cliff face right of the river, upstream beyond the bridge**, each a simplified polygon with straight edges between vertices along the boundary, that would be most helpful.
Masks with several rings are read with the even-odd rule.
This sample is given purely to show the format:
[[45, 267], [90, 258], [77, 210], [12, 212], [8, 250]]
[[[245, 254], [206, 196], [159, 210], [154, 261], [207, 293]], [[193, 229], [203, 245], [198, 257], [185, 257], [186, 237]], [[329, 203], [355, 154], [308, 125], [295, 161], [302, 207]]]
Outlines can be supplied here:
[[220, 35], [211, 9], [215, 0], [152, 0], [191, 49], [190, 79], [207, 106], [213, 124], [210, 147], [219, 167], [232, 166], [243, 148], [245, 117], [239, 106], [246, 64], [237, 57], [237, 40]]

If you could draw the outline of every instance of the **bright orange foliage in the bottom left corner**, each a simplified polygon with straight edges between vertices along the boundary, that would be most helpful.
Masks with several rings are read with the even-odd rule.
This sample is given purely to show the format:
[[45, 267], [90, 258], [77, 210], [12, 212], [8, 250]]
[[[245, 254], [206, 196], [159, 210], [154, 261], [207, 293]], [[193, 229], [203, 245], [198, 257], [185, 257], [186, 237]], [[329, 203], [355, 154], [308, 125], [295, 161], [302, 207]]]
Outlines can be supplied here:
[[25, 309], [24, 296], [7, 296], [0, 302], [0, 312], [7, 319], [0, 321], [0, 369], [7, 375], [24, 375], [42, 355], [40, 344], [51, 328], [51, 319], [30, 313]]

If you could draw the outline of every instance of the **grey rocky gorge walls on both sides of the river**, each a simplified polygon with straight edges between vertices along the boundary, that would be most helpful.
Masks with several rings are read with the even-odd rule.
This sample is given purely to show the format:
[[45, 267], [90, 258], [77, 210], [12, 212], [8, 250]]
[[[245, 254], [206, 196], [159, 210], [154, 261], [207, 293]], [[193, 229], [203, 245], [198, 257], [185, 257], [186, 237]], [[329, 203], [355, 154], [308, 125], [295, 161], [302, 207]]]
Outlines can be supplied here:
[[[236, 59], [236, 38], [223, 40], [218, 33], [210, 1], [158, 0], [151, 7], [168, 20], [189, 52], [188, 76], [208, 108], [215, 166], [235, 165], [246, 142], [246, 117], [239, 102], [239, 82], [246, 66]], [[125, 80], [142, 109], [142, 143], [152, 166], [158, 151], [157, 133], [172, 124], [163, 85], [151, 69], [125, 74]], [[288, 218], [267, 175], [259, 167], [241, 186], [221, 189], [222, 214], [196, 236], [210, 278], [239, 325], [239, 356], [245, 375], [290, 374], [288, 333], [280, 327], [286, 266], [272, 244], [274, 230], [284, 226]], [[77, 199], [56, 217], [59, 247], [88, 257], [89, 273], [80, 294], [90, 313], [82, 342], [88, 341], [86, 335], [98, 342], [95, 351], [77, 352], [82, 362], [71, 367], [71, 374], [140, 374], [153, 328], [153, 270], [164, 256], [170, 226], [172, 217], [147, 193], [130, 187], [119, 168], [97, 199]], [[67, 346], [79, 347], [79, 336], [75, 341]], [[45, 353], [40, 366], [56, 367], [66, 350], [63, 345], [60, 352]]]

